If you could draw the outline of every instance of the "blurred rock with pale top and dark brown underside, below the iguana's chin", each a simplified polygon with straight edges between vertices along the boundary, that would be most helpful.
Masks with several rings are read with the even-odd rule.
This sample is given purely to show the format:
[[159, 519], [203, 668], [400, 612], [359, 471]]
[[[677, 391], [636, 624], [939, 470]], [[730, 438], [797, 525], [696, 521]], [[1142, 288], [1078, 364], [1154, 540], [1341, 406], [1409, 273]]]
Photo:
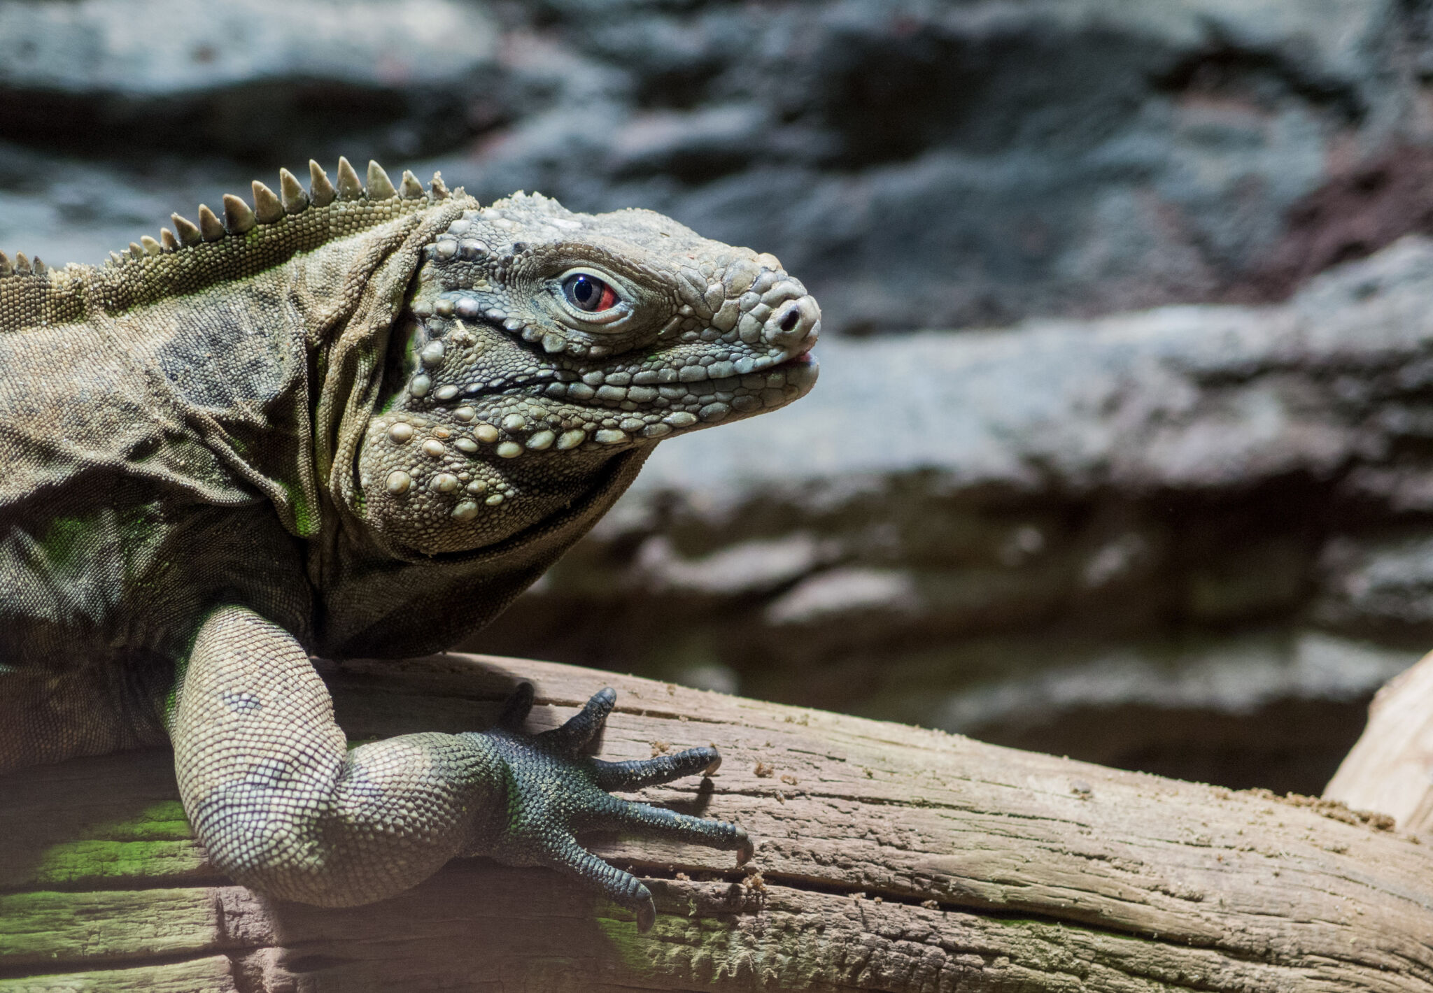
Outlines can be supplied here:
[[818, 351], [474, 643], [1317, 791], [1433, 642], [1433, 241], [1283, 305]]

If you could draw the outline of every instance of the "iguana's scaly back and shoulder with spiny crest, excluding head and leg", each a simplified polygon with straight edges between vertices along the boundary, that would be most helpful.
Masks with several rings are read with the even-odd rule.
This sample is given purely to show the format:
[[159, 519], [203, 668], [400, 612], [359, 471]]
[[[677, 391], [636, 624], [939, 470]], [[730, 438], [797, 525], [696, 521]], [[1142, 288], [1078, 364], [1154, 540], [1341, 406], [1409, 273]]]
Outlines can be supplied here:
[[0, 665], [63, 673], [27, 689], [60, 711], [54, 732], [89, 738], [34, 754], [53, 735], [27, 728], [32, 758], [155, 739], [216, 600], [311, 638], [294, 539], [324, 517], [317, 363], [342, 331], [391, 324], [424, 232], [476, 206], [411, 175], [378, 198], [338, 176], [315, 166], [310, 198], [285, 172], [282, 201], [255, 183], [258, 215], [225, 198], [226, 224], [176, 215], [178, 236], [102, 268], [0, 255]]

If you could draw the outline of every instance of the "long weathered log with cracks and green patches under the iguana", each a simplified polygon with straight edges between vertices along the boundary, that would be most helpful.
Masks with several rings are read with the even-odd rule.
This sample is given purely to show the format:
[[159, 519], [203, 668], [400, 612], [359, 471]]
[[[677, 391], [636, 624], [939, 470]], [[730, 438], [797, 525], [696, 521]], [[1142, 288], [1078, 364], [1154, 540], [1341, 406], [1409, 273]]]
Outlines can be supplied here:
[[0, 990], [1433, 990], [1433, 850], [1338, 802], [543, 662], [324, 675], [354, 739], [487, 726], [520, 678], [550, 726], [610, 683], [602, 755], [716, 744], [714, 778], [645, 795], [757, 857], [592, 838], [648, 877], [645, 936], [487, 860], [322, 910], [206, 865], [168, 754], [70, 761], [0, 779]]

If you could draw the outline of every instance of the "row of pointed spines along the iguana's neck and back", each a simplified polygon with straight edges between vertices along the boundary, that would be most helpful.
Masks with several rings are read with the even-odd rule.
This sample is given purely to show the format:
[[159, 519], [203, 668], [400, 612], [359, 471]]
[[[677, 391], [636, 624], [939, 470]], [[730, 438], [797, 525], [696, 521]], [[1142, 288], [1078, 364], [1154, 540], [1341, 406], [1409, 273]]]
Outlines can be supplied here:
[[224, 279], [252, 275], [337, 238], [420, 211], [463, 191], [449, 192], [440, 173], [428, 189], [411, 172], [396, 188], [377, 162], [368, 163], [367, 188], [348, 159], [338, 159], [337, 183], [317, 162], [308, 163], [305, 191], [279, 169], [275, 193], [254, 181], [254, 206], [226, 193], [219, 218], [201, 203], [199, 222], [171, 215], [173, 231], [142, 236], [126, 252], [110, 252], [103, 269], [66, 265], [52, 269], [39, 258], [0, 252], [0, 330], [59, 324], [79, 318], [86, 301], [119, 311], [182, 295]]

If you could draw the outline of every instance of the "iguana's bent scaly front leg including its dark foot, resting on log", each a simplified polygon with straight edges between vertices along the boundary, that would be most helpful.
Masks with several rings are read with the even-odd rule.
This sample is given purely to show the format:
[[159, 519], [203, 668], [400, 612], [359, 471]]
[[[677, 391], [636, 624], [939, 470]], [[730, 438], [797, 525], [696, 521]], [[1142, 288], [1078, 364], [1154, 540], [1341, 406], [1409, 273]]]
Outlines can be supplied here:
[[489, 732], [413, 734], [347, 751], [328, 691], [288, 632], [245, 608], [203, 623], [171, 714], [185, 812], [209, 858], [285, 900], [353, 906], [383, 900], [454, 855], [572, 873], [655, 918], [635, 877], [583, 850], [575, 831], [738, 850], [734, 824], [609, 795], [715, 767], [712, 748], [643, 762], [603, 762], [580, 749], [616, 694], [603, 689], [562, 728], [526, 735], [523, 683]]

